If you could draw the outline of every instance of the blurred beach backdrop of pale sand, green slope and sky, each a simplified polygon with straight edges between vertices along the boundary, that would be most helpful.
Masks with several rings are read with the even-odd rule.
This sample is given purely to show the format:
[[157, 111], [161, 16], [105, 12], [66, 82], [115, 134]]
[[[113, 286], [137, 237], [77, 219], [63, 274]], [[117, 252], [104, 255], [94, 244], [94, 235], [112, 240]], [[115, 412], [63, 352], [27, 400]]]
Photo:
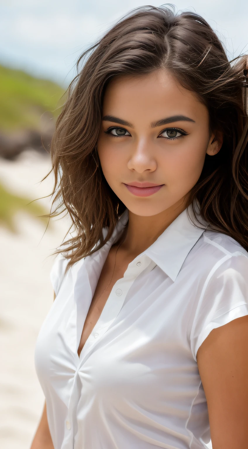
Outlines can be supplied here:
[[[0, 447], [28, 449], [44, 404], [35, 341], [53, 302], [53, 251], [70, 221], [49, 222], [49, 145], [80, 54], [138, 0], [0, 0]], [[159, 6], [159, 1], [153, 1]], [[247, 0], [180, 0], [229, 59], [248, 53]], [[37, 198], [45, 197], [39, 199]], [[46, 229], [47, 227], [47, 229]], [[209, 445], [209, 447], [211, 447]]]

